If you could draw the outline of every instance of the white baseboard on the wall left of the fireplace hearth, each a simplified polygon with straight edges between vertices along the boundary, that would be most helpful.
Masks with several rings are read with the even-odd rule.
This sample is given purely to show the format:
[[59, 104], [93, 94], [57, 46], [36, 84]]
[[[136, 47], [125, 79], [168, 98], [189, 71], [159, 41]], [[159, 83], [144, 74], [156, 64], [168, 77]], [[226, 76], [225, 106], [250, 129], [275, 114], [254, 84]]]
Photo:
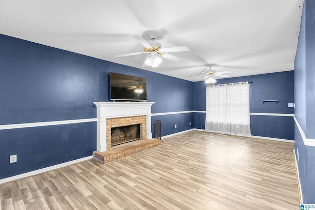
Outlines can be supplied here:
[[69, 166], [69, 165], [72, 165], [72, 164], [75, 164], [75, 163], [79, 163], [79, 162], [82, 162], [82, 161], [85, 161], [85, 160], [90, 160], [90, 159], [93, 159], [93, 156], [83, 157], [83, 158], [80, 158], [80, 159], [71, 160], [69, 162], [61, 163], [61, 164], [58, 164], [58, 165], [53, 165], [53, 166], [49, 166], [49, 167], [46, 167], [46, 168], [38, 169], [38, 170], [35, 170], [35, 171], [30, 171], [30, 172], [27, 172], [27, 173], [24, 173], [24, 174], [19, 174], [19, 175], [16, 175], [16, 176], [4, 178], [4, 179], [0, 180], [0, 184], [3, 184], [5, 182], [9, 182], [9, 181], [20, 180], [20, 179], [23, 179], [23, 178], [27, 178], [27, 177], [30, 177], [30, 176], [34, 176], [34, 175], [37, 175], [37, 174], [44, 173], [44, 172], [48, 172], [48, 171], [52, 171], [52, 170], [55, 170], [55, 169], [63, 168], [65, 166]]

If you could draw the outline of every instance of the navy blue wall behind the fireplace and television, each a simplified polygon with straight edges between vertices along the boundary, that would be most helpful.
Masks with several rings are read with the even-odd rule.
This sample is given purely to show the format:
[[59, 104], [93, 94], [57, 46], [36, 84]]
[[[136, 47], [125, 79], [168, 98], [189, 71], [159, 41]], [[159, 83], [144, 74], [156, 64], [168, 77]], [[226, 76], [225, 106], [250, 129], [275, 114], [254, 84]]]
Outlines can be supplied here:
[[[93, 102], [109, 101], [109, 72], [147, 78], [148, 101], [156, 102], [152, 113], [193, 110], [192, 82], [0, 34], [0, 125], [94, 119]], [[192, 113], [152, 119], [162, 121], [163, 135], [193, 124]], [[0, 179], [94, 150], [95, 121], [0, 130]], [[11, 154], [17, 154], [16, 163], [9, 163]]]

